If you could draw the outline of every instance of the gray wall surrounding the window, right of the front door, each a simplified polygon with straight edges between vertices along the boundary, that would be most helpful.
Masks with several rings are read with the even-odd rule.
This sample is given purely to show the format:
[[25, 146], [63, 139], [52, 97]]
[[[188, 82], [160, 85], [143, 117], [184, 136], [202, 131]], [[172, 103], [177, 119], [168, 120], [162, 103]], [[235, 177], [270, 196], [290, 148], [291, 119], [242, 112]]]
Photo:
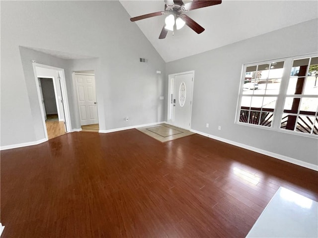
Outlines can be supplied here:
[[316, 138], [235, 124], [242, 64], [317, 52], [317, 29], [315, 19], [168, 62], [167, 74], [195, 70], [192, 129], [317, 165]]

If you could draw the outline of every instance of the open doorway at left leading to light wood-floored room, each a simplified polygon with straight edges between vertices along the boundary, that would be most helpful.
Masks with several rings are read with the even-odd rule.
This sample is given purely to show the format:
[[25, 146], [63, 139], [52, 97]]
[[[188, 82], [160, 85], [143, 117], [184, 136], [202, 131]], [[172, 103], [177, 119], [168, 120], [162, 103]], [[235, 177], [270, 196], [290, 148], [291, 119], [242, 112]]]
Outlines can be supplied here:
[[71, 130], [70, 111], [63, 68], [33, 62], [45, 139]]

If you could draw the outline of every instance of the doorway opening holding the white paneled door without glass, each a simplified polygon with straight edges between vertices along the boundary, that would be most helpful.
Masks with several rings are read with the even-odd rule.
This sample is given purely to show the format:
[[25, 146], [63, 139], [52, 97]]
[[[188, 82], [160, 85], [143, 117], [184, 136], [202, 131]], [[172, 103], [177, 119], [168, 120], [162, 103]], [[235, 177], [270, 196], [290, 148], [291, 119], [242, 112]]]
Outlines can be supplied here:
[[99, 131], [94, 70], [75, 71], [75, 87], [82, 131]]

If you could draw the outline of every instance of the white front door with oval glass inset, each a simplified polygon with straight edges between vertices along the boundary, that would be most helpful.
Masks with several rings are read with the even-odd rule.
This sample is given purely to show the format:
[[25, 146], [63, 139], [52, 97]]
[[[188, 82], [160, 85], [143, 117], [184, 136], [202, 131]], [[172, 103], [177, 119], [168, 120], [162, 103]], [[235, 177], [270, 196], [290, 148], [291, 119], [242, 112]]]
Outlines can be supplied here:
[[173, 78], [174, 126], [190, 129], [192, 108], [193, 73], [177, 74]]

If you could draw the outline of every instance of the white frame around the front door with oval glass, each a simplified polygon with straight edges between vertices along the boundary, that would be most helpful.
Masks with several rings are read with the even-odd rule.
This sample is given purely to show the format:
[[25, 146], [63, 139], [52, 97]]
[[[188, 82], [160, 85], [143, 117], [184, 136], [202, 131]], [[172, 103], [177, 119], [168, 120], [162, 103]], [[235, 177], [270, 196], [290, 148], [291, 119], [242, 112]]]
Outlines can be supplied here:
[[176, 75], [189, 74], [192, 73], [192, 92], [191, 92], [191, 106], [190, 106], [190, 129], [192, 124], [192, 105], [193, 105], [193, 89], [194, 89], [194, 70], [180, 72], [180, 73], [172, 73], [168, 75], [168, 97], [167, 97], [167, 123], [173, 125], [174, 118], [174, 107], [173, 107], [173, 83], [174, 77]]

